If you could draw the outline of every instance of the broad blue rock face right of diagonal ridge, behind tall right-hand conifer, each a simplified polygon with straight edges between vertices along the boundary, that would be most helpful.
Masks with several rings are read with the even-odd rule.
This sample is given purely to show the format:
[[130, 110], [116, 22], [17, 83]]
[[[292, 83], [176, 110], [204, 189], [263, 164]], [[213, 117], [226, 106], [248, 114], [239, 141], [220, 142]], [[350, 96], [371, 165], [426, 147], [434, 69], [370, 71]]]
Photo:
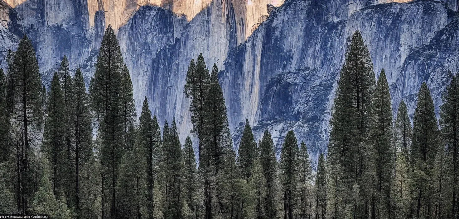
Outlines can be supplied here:
[[[424, 62], [435, 63], [432, 56], [444, 49], [447, 30], [442, 29], [455, 20], [447, 5], [441, 1], [370, 5], [346, 19], [337, 11], [323, 1], [287, 1], [244, 44], [230, 51], [219, 79], [232, 130], [240, 130], [240, 122], [248, 118], [256, 125], [258, 138], [265, 129], [274, 133], [278, 148], [286, 131], [293, 130], [311, 146], [313, 157], [326, 152], [339, 71], [356, 30], [368, 45], [376, 77], [382, 68], [386, 70], [394, 113], [400, 99], [409, 102], [413, 113], [423, 80], [434, 90], [434, 98], [439, 96], [448, 67], [407, 62], [424, 60], [416, 55], [423, 51], [430, 55]], [[433, 44], [440, 45], [434, 51], [424, 49]], [[444, 53], [457, 60], [451, 54], [456, 51]], [[432, 71], [443, 75], [431, 75]]]

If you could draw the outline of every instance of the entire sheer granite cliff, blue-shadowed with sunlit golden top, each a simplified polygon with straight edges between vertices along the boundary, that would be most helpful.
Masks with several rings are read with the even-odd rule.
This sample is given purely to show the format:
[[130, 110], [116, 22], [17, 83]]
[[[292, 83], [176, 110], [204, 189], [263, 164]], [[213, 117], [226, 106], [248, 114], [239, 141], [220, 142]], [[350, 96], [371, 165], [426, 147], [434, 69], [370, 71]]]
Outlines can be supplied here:
[[176, 116], [182, 141], [192, 127], [185, 74], [200, 53], [207, 67], [217, 63], [221, 70], [235, 142], [248, 118], [256, 138], [269, 129], [279, 147], [285, 133], [295, 131], [313, 158], [326, 151], [338, 74], [355, 30], [368, 44], [375, 76], [386, 70], [394, 113], [404, 99], [411, 115], [426, 81], [438, 114], [447, 72], [458, 70], [459, 20], [451, 0], [285, 0], [281, 6], [279, 0], [6, 3], [0, 0], [0, 59], [28, 34], [45, 84], [63, 55], [89, 82], [105, 28], [118, 29], [138, 115], [146, 96], [161, 123]]

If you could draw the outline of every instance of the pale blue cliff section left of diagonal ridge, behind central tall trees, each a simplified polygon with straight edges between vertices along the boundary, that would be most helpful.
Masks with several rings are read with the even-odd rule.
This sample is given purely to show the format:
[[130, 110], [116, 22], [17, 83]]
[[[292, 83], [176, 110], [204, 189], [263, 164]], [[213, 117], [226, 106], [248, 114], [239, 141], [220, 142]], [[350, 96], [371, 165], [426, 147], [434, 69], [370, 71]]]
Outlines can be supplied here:
[[123, 56], [128, 63], [132, 61], [136, 102], [147, 96], [160, 123], [177, 116], [182, 140], [192, 127], [183, 93], [190, 60], [202, 53], [209, 68], [213, 63], [222, 68], [229, 48], [243, 41], [233, 3], [214, 0], [190, 22], [170, 11], [144, 6], [118, 32]]

